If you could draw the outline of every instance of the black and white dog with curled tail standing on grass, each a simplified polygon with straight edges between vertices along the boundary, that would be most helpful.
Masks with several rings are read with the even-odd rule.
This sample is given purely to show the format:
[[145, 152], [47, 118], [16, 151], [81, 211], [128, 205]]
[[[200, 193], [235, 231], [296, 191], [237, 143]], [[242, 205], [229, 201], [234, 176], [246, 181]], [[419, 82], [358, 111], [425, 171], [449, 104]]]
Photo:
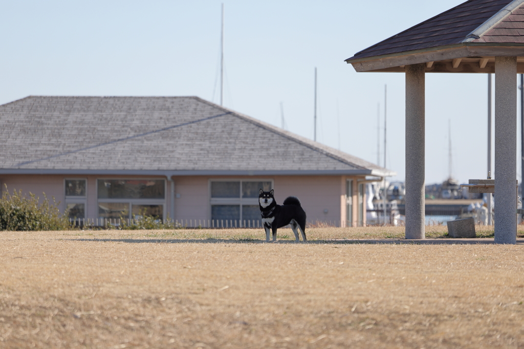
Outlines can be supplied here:
[[295, 196], [289, 196], [284, 200], [283, 205], [277, 205], [274, 194], [273, 189], [270, 192], [264, 192], [264, 190], [260, 189], [258, 193], [258, 204], [264, 230], [266, 231], [266, 242], [269, 242], [269, 229], [273, 233], [273, 241], [276, 241], [277, 229], [288, 224], [295, 234], [295, 241], [300, 241], [297, 228], [300, 228], [302, 240], [304, 242], [308, 241], [305, 238], [305, 212], [300, 205], [299, 199]]

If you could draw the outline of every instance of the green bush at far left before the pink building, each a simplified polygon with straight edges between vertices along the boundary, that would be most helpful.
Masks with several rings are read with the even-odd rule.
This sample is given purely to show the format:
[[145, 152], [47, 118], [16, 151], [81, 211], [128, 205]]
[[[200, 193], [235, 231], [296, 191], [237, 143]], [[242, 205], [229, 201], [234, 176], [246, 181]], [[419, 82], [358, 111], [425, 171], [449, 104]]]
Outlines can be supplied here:
[[7, 190], [0, 198], [0, 230], [9, 231], [37, 231], [37, 230], [68, 230], [71, 224], [67, 213], [60, 213], [58, 204], [51, 204], [46, 194], [43, 194], [43, 202], [39, 205], [39, 199], [35, 194], [29, 193], [29, 197], [23, 196], [22, 191], [13, 194]]

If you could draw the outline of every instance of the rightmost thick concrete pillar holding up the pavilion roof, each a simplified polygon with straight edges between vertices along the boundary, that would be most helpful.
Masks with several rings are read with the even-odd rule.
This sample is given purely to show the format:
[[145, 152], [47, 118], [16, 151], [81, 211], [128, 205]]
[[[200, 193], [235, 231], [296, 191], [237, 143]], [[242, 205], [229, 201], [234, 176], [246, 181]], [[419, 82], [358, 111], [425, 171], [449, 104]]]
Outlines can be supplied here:
[[495, 242], [517, 243], [517, 58], [495, 57]]

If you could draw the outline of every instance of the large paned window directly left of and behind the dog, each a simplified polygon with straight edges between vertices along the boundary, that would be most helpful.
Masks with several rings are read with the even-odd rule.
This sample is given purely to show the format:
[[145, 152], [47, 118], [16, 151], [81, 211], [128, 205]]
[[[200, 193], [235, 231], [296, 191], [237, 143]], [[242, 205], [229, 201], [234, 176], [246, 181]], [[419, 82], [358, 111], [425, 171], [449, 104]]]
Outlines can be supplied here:
[[217, 224], [227, 220], [237, 227], [252, 227], [260, 220], [258, 192], [271, 190], [272, 181], [211, 181], [210, 186], [212, 220]]

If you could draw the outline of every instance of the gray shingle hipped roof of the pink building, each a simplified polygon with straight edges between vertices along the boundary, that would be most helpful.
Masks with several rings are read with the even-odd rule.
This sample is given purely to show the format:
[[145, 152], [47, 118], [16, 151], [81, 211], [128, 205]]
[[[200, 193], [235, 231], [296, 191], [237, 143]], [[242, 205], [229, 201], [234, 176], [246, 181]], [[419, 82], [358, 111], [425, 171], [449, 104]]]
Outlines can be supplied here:
[[0, 123], [0, 173], [394, 174], [198, 97], [29, 96]]

